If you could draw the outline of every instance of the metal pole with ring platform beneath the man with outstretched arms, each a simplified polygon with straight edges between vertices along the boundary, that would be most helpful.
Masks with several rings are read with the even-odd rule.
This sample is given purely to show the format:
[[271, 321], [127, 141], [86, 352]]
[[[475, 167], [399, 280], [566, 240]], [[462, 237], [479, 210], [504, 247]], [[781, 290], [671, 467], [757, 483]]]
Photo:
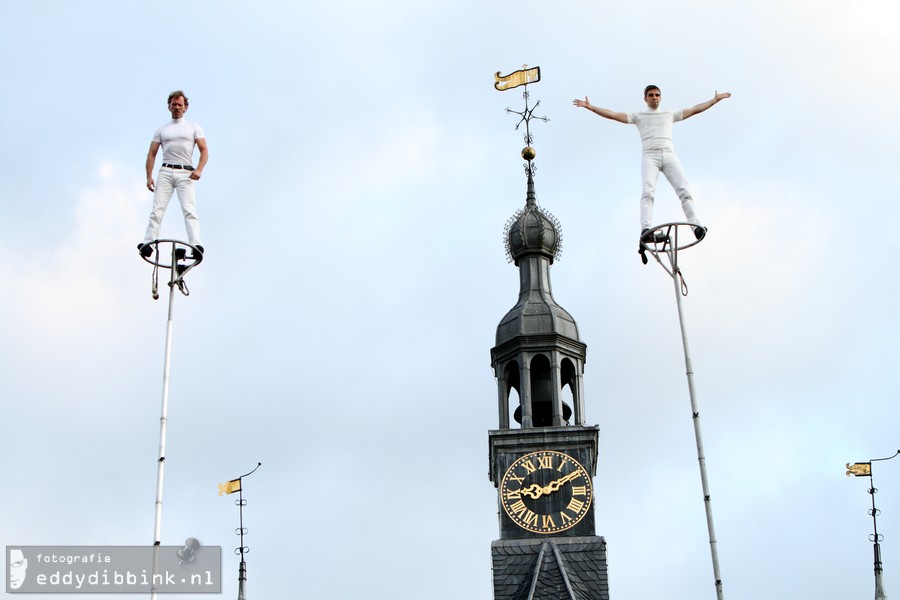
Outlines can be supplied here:
[[[709, 551], [712, 556], [713, 577], [715, 578], [716, 598], [724, 600], [724, 592], [722, 590], [722, 575], [719, 571], [719, 550], [716, 541], [716, 528], [713, 524], [712, 516], [712, 499], [709, 493], [709, 478], [706, 473], [706, 455], [703, 451], [703, 436], [700, 432], [700, 409], [697, 407], [697, 391], [694, 388], [694, 366], [691, 362], [691, 352], [688, 347], [687, 326], [684, 319], [684, 308], [681, 304], [681, 297], [687, 294], [687, 286], [681, 275], [681, 269], [678, 267], [678, 251], [689, 248], [699, 242], [693, 239], [693, 233], [688, 237], [690, 241], [682, 241], [679, 245], [679, 226], [688, 231], [693, 230], [693, 226], [688, 223], [668, 223], [657, 227], [652, 232], [652, 241], [644, 242], [644, 247], [656, 258], [659, 264], [672, 277], [675, 284], [675, 303], [678, 306], [678, 324], [681, 327], [681, 342], [684, 347], [684, 365], [687, 372], [688, 392], [691, 396], [691, 419], [694, 422], [694, 438], [697, 442], [697, 461], [700, 464], [700, 484], [703, 488], [703, 506], [706, 510], [706, 528], [709, 533]], [[669, 267], [666, 267], [659, 258], [660, 253], [664, 254], [669, 261]]]

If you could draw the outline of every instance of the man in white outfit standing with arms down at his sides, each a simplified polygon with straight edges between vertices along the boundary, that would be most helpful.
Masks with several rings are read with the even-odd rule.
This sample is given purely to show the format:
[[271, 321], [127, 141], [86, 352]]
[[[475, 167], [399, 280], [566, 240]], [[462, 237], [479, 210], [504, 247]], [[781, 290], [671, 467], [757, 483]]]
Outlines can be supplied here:
[[[141, 256], [145, 257], [153, 252], [150, 242], [159, 238], [159, 227], [166, 213], [166, 206], [176, 191], [178, 201], [181, 203], [181, 212], [184, 214], [188, 243], [203, 253], [200, 221], [197, 219], [197, 203], [194, 198], [194, 182], [200, 179], [203, 167], [209, 160], [206, 137], [200, 125], [184, 119], [184, 113], [188, 109], [188, 99], [184, 92], [176, 90], [169, 94], [168, 107], [172, 120], [156, 130], [153, 141], [150, 142], [150, 151], [147, 152], [147, 189], [154, 194], [147, 233], [144, 234], [144, 241], [138, 244]], [[192, 166], [195, 145], [200, 150], [200, 161], [196, 168]], [[154, 181], [153, 165], [156, 163], [156, 154], [160, 146], [163, 150], [163, 162]]]

